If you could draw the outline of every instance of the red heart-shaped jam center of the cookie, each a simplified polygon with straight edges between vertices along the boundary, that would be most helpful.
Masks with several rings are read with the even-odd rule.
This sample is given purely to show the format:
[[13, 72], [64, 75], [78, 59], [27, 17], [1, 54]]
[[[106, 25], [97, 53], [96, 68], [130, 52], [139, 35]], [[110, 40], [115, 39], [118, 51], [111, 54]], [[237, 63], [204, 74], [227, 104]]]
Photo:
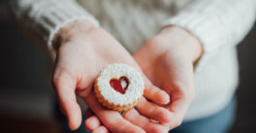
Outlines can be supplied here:
[[125, 76], [122, 76], [119, 79], [112, 78], [110, 84], [112, 89], [114, 89], [116, 92], [124, 94], [129, 86], [129, 80]]

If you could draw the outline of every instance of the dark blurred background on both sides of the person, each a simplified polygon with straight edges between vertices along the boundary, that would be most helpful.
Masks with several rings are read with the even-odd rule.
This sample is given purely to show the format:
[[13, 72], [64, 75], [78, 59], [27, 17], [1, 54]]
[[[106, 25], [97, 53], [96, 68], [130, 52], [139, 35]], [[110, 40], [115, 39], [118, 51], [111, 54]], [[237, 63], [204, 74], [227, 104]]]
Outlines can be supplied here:
[[[50, 87], [47, 52], [18, 31], [0, 0], [0, 132], [59, 133]], [[239, 47], [240, 86], [237, 120], [231, 133], [256, 130], [256, 27]]]

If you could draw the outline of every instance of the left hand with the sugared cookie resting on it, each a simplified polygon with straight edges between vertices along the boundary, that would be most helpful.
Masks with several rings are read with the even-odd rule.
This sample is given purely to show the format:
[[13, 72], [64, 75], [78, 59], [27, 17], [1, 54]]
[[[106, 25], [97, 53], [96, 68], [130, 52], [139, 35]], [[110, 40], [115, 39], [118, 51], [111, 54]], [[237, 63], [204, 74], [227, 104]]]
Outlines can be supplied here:
[[[119, 113], [103, 108], [92, 91], [99, 71], [109, 64], [124, 63], [141, 71], [132, 56], [118, 41], [90, 22], [79, 20], [62, 28], [56, 34], [53, 44], [56, 51], [53, 86], [72, 129], [77, 129], [81, 121], [80, 106], [76, 100], [78, 95], [105, 125], [101, 126], [102, 129], [107, 131], [109, 129], [112, 132], [144, 132], [139, 126], [124, 120]], [[144, 81], [146, 98], [158, 104], [169, 103], [170, 97], [167, 93], [152, 86], [146, 78]], [[144, 103], [150, 106], [141, 105], [140, 113], [150, 116], [150, 112], [145, 109], [152, 108], [154, 104], [148, 101]], [[155, 113], [160, 115], [165, 113], [161, 111], [159, 109]]]

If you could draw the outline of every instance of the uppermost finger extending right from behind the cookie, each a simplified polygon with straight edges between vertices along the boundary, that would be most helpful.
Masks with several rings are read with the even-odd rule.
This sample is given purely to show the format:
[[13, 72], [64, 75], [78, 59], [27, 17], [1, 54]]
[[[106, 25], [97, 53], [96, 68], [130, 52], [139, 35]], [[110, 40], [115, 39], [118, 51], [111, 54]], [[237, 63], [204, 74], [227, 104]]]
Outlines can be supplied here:
[[144, 96], [151, 101], [158, 104], [168, 104], [170, 102], [170, 96], [163, 90], [160, 90], [156, 86], [153, 86], [150, 81], [144, 77]]

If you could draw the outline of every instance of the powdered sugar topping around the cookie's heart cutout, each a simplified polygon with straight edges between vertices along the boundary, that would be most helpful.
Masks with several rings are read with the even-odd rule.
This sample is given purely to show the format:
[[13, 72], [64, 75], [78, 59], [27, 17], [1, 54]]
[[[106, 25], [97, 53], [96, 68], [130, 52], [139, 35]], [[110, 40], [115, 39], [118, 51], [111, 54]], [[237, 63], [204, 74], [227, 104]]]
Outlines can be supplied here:
[[[125, 93], [119, 93], [112, 88], [110, 82], [112, 79], [118, 81], [123, 77], [128, 81], [119, 81], [120, 87], [128, 87]], [[144, 79], [141, 74], [133, 67], [124, 64], [112, 64], [102, 69], [95, 84], [105, 100], [119, 106], [133, 104], [144, 93]]]

